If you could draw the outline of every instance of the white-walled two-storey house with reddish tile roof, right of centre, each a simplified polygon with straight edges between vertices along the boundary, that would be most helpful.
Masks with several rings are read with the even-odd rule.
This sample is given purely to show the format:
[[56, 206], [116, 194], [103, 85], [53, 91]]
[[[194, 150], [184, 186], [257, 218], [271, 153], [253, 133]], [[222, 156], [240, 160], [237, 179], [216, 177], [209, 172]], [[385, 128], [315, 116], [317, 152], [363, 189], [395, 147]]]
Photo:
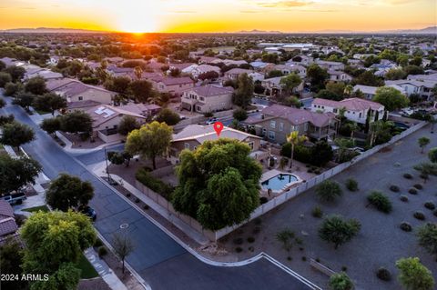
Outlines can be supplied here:
[[344, 116], [348, 120], [359, 124], [366, 124], [368, 116], [370, 123], [381, 120], [384, 116], [383, 105], [358, 97], [344, 99], [340, 102], [316, 98], [311, 104], [311, 112], [339, 115], [342, 108], [344, 108]]

